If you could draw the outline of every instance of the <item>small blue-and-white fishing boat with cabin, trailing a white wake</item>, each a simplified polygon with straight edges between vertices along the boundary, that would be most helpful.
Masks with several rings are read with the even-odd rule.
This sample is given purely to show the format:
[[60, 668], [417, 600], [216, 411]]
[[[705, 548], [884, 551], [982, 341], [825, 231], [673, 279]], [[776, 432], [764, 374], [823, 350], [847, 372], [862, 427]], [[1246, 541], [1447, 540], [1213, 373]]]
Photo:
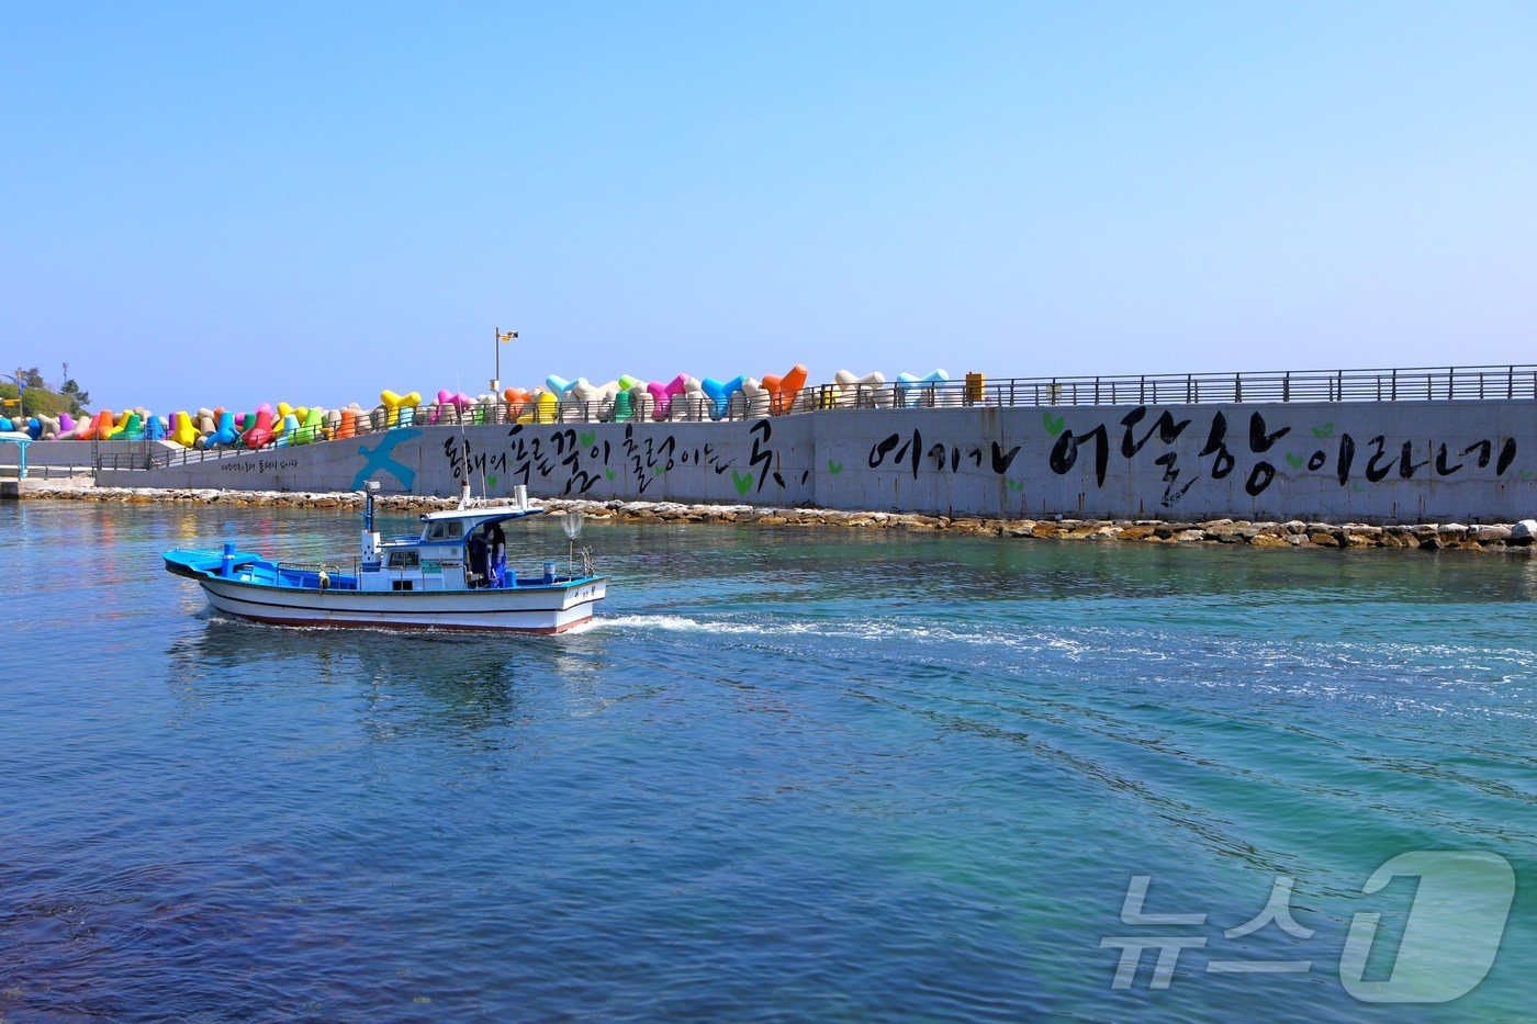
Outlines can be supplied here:
[[[592, 620], [609, 581], [593, 574], [586, 550], [579, 570], [572, 555], [566, 574], [553, 560], [530, 575], [507, 566], [503, 523], [543, 512], [524, 487], [510, 503], [483, 504], [464, 484], [456, 509], [421, 517], [421, 534], [381, 540], [369, 489], [352, 572], [272, 561], [234, 543], [168, 550], [164, 561], [168, 572], [197, 580], [215, 610], [257, 623], [559, 633]], [[581, 532], [579, 514], [572, 515], [567, 537]]]

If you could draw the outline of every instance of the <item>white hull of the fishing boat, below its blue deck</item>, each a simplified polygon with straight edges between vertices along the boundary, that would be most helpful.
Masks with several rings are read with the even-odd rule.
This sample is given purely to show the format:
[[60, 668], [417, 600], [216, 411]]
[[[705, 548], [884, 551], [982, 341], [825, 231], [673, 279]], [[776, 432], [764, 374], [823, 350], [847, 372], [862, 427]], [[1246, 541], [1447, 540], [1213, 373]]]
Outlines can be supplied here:
[[559, 633], [592, 618], [607, 580], [484, 590], [298, 590], [201, 577], [215, 610], [278, 626], [481, 629]]

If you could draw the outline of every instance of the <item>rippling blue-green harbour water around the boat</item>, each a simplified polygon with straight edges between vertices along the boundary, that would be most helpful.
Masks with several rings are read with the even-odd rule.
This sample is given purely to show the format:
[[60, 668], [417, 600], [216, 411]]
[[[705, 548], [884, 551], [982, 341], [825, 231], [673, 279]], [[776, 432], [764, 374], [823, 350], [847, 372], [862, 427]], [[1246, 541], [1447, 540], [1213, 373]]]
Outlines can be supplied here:
[[[350, 515], [0, 526], [0, 1013], [1515, 1019], [1537, 996], [1525, 557], [590, 523], [595, 629], [397, 637], [221, 621], [160, 567], [223, 537], [350, 552]], [[564, 549], [555, 523], [524, 538]], [[1383, 970], [1414, 898], [1362, 886], [1422, 849], [1515, 867], [1499, 958], [1448, 1004], [1359, 1002], [1353, 915], [1385, 913]], [[1207, 921], [1124, 924], [1134, 875], [1147, 913]], [[1277, 875], [1311, 936], [1225, 938]], [[1116, 990], [1100, 941], [1148, 933], [1207, 944]]]

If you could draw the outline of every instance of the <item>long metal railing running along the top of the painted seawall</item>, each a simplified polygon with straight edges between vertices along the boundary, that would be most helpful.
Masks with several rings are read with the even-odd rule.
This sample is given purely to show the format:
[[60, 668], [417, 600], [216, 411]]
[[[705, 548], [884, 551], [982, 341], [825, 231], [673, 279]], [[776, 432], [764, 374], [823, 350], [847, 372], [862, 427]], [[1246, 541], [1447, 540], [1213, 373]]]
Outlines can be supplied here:
[[[335, 424], [298, 427], [258, 449], [214, 446], [168, 449], [146, 444], [134, 452], [97, 452], [95, 469], [158, 469], [220, 460], [249, 450], [367, 437], [406, 426], [487, 426], [510, 423], [715, 423], [759, 420], [822, 411], [962, 409], [1030, 406], [1160, 406], [1290, 401], [1489, 401], [1537, 398], [1537, 364], [1446, 366], [1356, 371], [1273, 371], [1251, 374], [1140, 374], [1120, 377], [1005, 377], [998, 380], [888, 381], [884, 384], [813, 384], [795, 392], [741, 391], [729, 398], [678, 395], [661, 406], [649, 394], [630, 395], [629, 409], [612, 397], [553, 403], [423, 404], [360, 412], [350, 431]], [[658, 415], [666, 409], [666, 415]]]

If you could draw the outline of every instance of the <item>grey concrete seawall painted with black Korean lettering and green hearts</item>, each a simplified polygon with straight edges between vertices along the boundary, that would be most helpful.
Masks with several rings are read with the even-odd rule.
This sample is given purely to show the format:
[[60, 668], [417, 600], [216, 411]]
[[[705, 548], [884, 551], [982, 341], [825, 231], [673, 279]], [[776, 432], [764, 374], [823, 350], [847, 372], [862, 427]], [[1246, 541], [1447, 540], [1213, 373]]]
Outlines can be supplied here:
[[[61, 443], [72, 444], [72, 443]], [[34, 446], [34, 450], [40, 446]], [[194, 460], [197, 455], [192, 457]], [[1097, 520], [1509, 523], [1537, 512], [1537, 401], [827, 411], [733, 423], [403, 427], [103, 486], [812, 504]]]

